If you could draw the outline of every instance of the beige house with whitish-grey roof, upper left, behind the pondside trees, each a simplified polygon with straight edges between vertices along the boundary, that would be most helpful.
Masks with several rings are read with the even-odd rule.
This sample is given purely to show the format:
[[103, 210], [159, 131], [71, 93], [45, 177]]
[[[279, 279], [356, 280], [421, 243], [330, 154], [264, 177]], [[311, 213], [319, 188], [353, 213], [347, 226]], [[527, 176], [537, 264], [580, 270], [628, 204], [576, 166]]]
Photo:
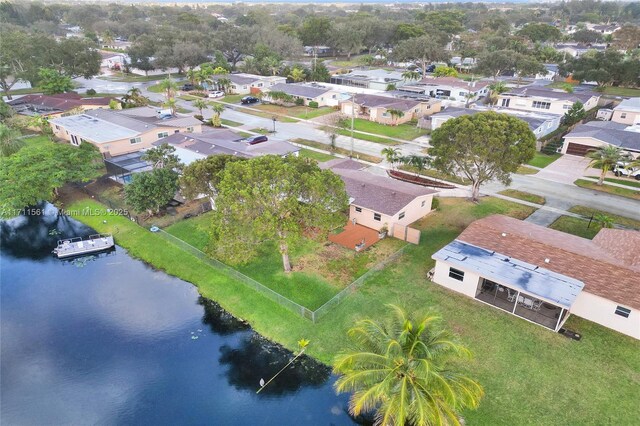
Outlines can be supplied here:
[[91, 143], [105, 157], [151, 148], [153, 142], [173, 133], [202, 131], [202, 123], [194, 117], [160, 119], [151, 107], [87, 111], [50, 120], [49, 124], [57, 138], [72, 145]]

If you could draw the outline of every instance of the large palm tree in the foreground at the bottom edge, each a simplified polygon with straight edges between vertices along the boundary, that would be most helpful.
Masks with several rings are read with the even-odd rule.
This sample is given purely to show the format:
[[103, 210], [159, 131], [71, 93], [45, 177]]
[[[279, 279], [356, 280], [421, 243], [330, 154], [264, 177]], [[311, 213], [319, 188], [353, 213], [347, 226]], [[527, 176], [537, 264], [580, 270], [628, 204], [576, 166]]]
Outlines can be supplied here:
[[375, 410], [376, 425], [460, 425], [459, 411], [476, 408], [484, 393], [455, 371], [469, 350], [435, 327], [439, 318], [416, 321], [388, 306], [386, 321], [365, 319], [349, 330], [357, 351], [335, 360], [337, 392], [352, 392], [349, 412]]

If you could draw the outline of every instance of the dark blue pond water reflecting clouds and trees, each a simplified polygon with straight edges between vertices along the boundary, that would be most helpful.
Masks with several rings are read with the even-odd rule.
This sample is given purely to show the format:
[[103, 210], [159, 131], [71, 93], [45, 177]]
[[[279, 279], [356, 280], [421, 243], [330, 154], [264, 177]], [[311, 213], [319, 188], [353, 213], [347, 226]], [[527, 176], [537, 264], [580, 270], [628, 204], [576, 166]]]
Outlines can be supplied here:
[[292, 354], [191, 284], [121, 248], [55, 259], [92, 231], [47, 213], [0, 225], [0, 424], [353, 424], [310, 358], [256, 395]]

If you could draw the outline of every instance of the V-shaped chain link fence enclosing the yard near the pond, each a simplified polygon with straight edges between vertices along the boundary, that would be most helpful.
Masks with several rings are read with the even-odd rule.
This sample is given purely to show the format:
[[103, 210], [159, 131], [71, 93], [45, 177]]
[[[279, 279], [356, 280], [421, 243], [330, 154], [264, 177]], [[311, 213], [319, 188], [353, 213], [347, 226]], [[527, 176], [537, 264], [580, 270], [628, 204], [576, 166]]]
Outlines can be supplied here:
[[162, 229], [158, 229], [156, 232], [162, 238], [166, 239], [167, 241], [170, 241], [171, 243], [173, 243], [174, 245], [180, 247], [184, 251], [186, 251], [188, 253], [191, 253], [192, 255], [196, 256], [198, 259], [202, 260], [203, 262], [205, 262], [206, 264], [208, 264], [212, 268], [217, 269], [218, 271], [221, 271], [222, 273], [227, 274], [228, 276], [231, 276], [231, 277], [243, 282], [244, 284], [248, 285], [252, 289], [260, 292], [262, 295], [264, 295], [264, 296], [268, 297], [269, 299], [273, 300], [274, 302], [278, 303], [280, 306], [283, 306], [283, 307], [287, 308], [288, 310], [300, 315], [301, 317], [311, 320], [314, 323], [316, 321], [318, 321], [322, 316], [324, 316], [327, 312], [329, 312], [334, 306], [338, 305], [345, 297], [347, 297], [348, 295], [354, 293], [373, 274], [376, 274], [377, 272], [379, 272], [382, 269], [384, 269], [384, 267], [387, 266], [389, 263], [391, 263], [391, 262], [395, 261], [396, 259], [398, 259], [402, 255], [404, 250], [409, 246], [409, 244], [403, 246], [400, 250], [398, 250], [397, 252], [393, 253], [391, 256], [389, 256], [388, 258], [386, 258], [382, 262], [378, 263], [377, 265], [375, 265], [374, 267], [369, 269], [367, 272], [365, 272], [358, 279], [356, 279], [351, 284], [349, 284], [347, 287], [345, 287], [338, 294], [336, 294], [331, 299], [329, 299], [324, 305], [320, 306], [315, 311], [312, 311], [312, 310], [310, 310], [310, 309], [308, 309], [308, 308], [306, 308], [306, 307], [294, 302], [293, 300], [290, 300], [290, 299], [284, 297], [280, 293], [271, 290], [269, 287], [265, 286], [264, 284], [261, 284], [260, 282], [254, 280], [251, 277], [248, 277], [248, 276], [244, 275], [243, 273], [237, 271], [236, 269], [234, 269], [234, 268], [232, 268], [232, 267], [230, 267], [228, 265], [225, 265], [224, 263], [220, 262], [219, 260], [213, 259], [212, 257], [208, 256], [206, 253], [202, 252], [202, 250], [197, 249], [196, 247], [192, 246], [191, 244], [187, 243], [186, 241], [181, 240], [180, 238], [178, 238], [178, 237], [176, 237], [174, 235], [171, 235], [171, 234], [169, 234], [168, 232], [166, 232], [166, 231], [164, 231]]

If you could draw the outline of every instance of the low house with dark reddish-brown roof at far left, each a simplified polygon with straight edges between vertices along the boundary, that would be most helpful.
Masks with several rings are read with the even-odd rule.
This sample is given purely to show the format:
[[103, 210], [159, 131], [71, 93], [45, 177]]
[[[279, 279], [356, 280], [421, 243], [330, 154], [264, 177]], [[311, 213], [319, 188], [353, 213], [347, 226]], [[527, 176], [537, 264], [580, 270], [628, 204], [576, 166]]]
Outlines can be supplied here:
[[83, 98], [77, 93], [57, 95], [25, 95], [8, 101], [16, 114], [26, 116], [42, 115], [55, 118], [92, 109], [109, 108], [113, 98]]

